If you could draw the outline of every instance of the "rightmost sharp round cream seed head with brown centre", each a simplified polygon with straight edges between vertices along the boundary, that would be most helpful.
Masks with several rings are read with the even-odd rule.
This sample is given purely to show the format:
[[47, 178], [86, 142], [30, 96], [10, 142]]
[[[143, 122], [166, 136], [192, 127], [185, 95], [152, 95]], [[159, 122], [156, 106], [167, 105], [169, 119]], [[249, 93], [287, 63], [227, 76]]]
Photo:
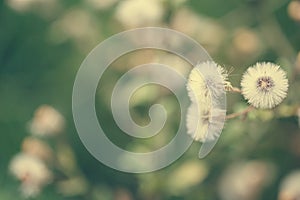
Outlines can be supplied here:
[[273, 63], [257, 63], [244, 73], [242, 94], [256, 108], [273, 108], [287, 96], [288, 80], [280, 66]]

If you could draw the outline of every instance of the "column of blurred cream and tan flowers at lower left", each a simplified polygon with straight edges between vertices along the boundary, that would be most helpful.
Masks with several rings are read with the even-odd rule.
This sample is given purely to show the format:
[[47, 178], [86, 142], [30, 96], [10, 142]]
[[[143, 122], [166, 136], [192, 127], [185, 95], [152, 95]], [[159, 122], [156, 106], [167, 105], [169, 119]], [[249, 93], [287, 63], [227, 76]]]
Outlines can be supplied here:
[[63, 130], [64, 118], [53, 107], [40, 106], [29, 125], [31, 136], [22, 143], [22, 151], [15, 155], [9, 171], [21, 182], [20, 190], [24, 197], [35, 197], [53, 181], [51, 163], [53, 149], [44, 140]]

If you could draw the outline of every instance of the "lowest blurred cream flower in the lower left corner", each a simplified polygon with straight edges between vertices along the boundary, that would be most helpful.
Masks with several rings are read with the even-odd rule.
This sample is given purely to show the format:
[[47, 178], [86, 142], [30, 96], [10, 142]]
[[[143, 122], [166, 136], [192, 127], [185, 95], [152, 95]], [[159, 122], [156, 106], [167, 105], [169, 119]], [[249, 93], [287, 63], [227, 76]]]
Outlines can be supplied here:
[[52, 180], [52, 173], [40, 159], [24, 153], [12, 159], [9, 170], [21, 181], [21, 192], [25, 197], [38, 195]]

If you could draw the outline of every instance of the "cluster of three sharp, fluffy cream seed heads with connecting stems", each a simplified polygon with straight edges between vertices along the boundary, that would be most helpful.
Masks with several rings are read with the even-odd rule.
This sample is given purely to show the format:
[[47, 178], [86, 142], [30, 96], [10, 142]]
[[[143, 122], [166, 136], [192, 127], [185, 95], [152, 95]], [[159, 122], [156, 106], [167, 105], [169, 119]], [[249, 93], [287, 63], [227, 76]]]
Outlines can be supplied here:
[[[217, 103], [222, 92], [242, 93], [251, 107], [271, 109], [287, 96], [288, 80], [280, 66], [257, 63], [243, 74], [241, 89], [238, 89], [232, 86], [224, 68], [214, 62], [204, 62], [190, 72], [187, 90], [191, 100], [187, 111], [187, 133], [196, 141], [206, 142], [217, 139], [223, 128], [222, 119], [226, 112]], [[227, 118], [249, 111], [251, 109]]]

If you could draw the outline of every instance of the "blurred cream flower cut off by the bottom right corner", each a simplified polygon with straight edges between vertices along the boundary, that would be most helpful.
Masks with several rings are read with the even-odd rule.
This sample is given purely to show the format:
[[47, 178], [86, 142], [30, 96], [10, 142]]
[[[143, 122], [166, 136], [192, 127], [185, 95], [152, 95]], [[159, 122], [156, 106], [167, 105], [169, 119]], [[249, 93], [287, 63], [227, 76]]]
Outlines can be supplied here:
[[288, 174], [280, 185], [278, 200], [300, 199], [300, 170]]

